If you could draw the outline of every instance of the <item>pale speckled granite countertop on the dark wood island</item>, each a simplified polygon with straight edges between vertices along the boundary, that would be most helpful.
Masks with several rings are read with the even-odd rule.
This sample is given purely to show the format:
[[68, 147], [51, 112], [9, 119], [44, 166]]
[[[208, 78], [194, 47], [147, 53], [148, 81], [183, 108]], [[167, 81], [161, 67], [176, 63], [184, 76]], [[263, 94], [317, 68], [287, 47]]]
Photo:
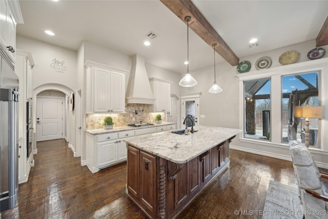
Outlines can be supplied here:
[[240, 129], [199, 126], [199, 131], [188, 135], [165, 131], [134, 136], [123, 141], [173, 163], [184, 164], [241, 131]]

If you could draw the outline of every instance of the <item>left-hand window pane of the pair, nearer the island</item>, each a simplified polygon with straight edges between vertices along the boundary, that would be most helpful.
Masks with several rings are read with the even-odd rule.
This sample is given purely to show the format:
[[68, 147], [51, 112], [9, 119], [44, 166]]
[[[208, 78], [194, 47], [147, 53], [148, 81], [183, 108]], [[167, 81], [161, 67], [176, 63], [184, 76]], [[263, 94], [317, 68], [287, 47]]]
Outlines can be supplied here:
[[271, 79], [244, 82], [245, 137], [270, 140]]

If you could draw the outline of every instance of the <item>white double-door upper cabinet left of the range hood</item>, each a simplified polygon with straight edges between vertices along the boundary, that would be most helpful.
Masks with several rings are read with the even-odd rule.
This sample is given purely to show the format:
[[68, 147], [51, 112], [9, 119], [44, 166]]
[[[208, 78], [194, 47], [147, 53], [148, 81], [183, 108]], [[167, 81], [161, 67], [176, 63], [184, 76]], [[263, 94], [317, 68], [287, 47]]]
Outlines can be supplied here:
[[125, 113], [125, 70], [87, 61], [87, 113]]

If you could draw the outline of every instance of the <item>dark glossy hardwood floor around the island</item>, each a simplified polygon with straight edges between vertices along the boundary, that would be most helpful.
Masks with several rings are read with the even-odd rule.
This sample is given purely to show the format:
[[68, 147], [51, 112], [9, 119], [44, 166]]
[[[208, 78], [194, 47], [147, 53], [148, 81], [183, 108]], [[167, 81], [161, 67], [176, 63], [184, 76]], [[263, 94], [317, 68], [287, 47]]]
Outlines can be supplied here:
[[[147, 218], [127, 197], [126, 163], [92, 174], [65, 140], [37, 143], [28, 182], [6, 218]], [[292, 162], [231, 150], [230, 168], [215, 177], [177, 218], [262, 218], [269, 181], [295, 187]], [[254, 215], [235, 215], [252, 210]]]

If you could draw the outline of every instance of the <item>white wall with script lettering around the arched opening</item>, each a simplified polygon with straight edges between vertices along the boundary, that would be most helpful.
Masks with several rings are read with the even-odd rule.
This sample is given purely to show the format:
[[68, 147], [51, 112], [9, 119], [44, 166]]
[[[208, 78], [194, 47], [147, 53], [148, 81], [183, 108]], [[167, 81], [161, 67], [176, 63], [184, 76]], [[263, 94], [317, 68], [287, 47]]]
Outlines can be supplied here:
[[[73, 50], [57, 47], [25, 36], [16, 36], [16, 48], [31, 52], [35, 66], [32, 69], [32, 96], [36, 97], [39, 92], [52, 89], [69, 95], [70, 90], [77, 88], [76, 81], [76, 52]], [[55, 61], [58, 61], [57, 63]], [[49, 95], [49, 92], [48, 92]], [[36, 98], [33, 98], [33, 100]], [[35, 121], [36, 103], [33, 101], [33, 118]], [[67, 112], [67, 110], [65, 110]], [[69, 112], [66, 116], [71, 124], [70, 133], [67, 133], [69, 144], [75, 146], [75, 115]], [[37, 127], [33, 125], [36, 129]], [[76, 150], [76, 148], [75, 148]], [[34, 151], [37, 151], [34, 148]]]

